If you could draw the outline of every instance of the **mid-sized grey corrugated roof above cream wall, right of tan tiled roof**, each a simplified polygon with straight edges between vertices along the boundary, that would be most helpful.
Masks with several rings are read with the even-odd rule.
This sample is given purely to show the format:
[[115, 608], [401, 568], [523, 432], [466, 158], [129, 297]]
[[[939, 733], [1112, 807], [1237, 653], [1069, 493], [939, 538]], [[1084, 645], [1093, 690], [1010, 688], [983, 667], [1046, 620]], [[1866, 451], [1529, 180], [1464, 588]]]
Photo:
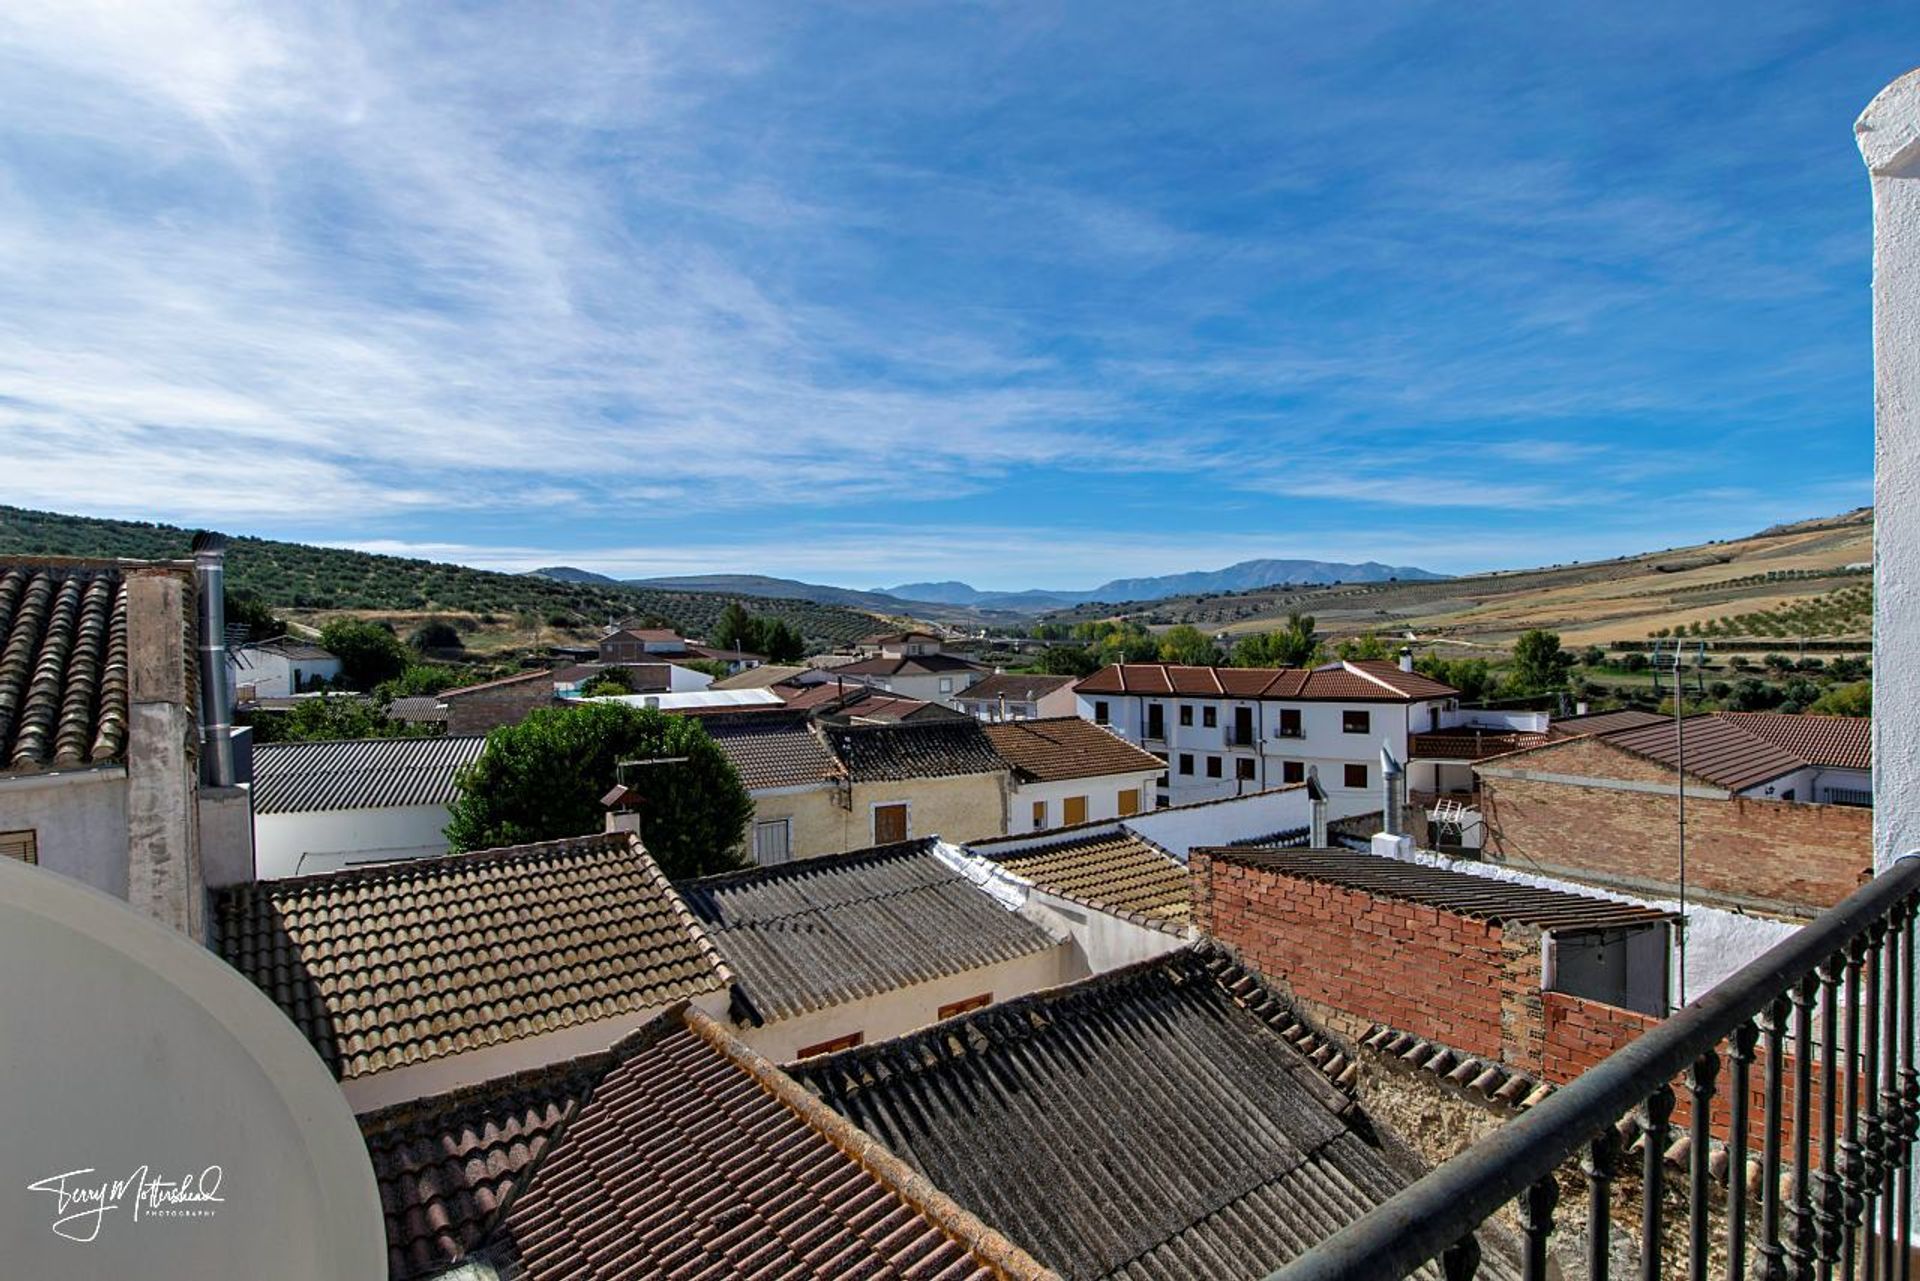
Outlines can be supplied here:
[[931, 851], [927, 837], [678, 889], [764, 1022], [1060, 945]]

